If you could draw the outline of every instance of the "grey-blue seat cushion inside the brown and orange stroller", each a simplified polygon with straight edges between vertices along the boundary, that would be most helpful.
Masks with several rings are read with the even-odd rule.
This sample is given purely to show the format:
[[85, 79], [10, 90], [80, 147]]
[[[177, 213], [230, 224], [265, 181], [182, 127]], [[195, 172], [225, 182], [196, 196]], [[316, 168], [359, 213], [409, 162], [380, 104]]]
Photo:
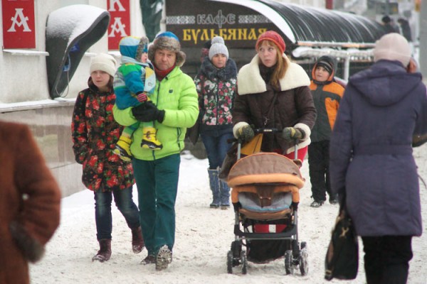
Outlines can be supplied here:
[[271, 198], [271, 203], [268, 206], [261, 206], [258, 195], [252, 192], [239, 192], [238, 201], [243, 209], [252, 212], [280, 212], [285, 209], [290, 209], [292, 204], [291, 192], [278, 192]]

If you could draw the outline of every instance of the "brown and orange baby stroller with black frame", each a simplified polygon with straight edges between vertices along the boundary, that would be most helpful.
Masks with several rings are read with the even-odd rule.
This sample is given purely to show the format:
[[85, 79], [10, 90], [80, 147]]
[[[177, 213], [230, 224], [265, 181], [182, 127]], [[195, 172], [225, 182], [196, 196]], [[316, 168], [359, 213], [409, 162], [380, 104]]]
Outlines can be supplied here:
[[[298, 240], [297, 206], [305, 180], [295, 161], [278, 153], [255, 153], [240, 158], [228, 174], [235, 211], [234, 235], [227, 253], [227, 272], [241, 266], [247, 273], [248, 261], [268, 263], [285, 259], [286, 274], [298, 268], [308, 272], [307, 244]], [[246, 250], [243, 249], [246, 247]]]

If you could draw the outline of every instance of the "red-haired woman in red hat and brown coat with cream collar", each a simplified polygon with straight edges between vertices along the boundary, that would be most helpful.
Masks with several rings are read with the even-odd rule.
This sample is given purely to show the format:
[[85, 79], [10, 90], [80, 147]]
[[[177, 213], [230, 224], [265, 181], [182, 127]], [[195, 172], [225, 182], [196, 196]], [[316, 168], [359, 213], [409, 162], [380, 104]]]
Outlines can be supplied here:
[[305, 70], [284, 54], [285, 42], [275, 31], [258, 38], [257, 55], [238, 72], [238, 95], [233, 104], [233, 133], [250, 141], [253, 128], [275, 128], [283, 133], [264, 133], [261, 151], [304, 159], [315, 125], [316, 109]]

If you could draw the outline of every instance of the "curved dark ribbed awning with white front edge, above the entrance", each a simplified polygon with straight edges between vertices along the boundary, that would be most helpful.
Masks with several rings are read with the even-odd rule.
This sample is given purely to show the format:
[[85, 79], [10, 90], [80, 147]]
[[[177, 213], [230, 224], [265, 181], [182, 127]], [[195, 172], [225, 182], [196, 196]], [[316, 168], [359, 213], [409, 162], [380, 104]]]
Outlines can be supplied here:
[[319, 9], [272, 0], [211, 0], [236, 4], [262, 14], [293, 45], [371, 48], [384, 35], [380, 23], [352, 13]]

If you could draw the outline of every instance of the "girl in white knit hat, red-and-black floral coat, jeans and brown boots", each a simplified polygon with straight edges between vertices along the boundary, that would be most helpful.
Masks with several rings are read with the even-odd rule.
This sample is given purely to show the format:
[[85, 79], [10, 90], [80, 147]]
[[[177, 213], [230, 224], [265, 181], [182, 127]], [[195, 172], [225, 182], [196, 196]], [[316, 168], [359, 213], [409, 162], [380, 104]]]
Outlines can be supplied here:
[[132, 230], [132, 250], [139, 253], [144, 249], [139, 212], [132, 200], [135, 182], [132, 164], [113, 152], [123, 130], [112, 116], [115, 63], [115, 59], [107, 54], [93, 58], [89, 88], [78, 94], [71, 124], [75, 160], [83, 165], [83, 184], [95, 193], [95, 223], [100, 250], [93, 261], [101, 262], [111, 256], [112, 196]]

